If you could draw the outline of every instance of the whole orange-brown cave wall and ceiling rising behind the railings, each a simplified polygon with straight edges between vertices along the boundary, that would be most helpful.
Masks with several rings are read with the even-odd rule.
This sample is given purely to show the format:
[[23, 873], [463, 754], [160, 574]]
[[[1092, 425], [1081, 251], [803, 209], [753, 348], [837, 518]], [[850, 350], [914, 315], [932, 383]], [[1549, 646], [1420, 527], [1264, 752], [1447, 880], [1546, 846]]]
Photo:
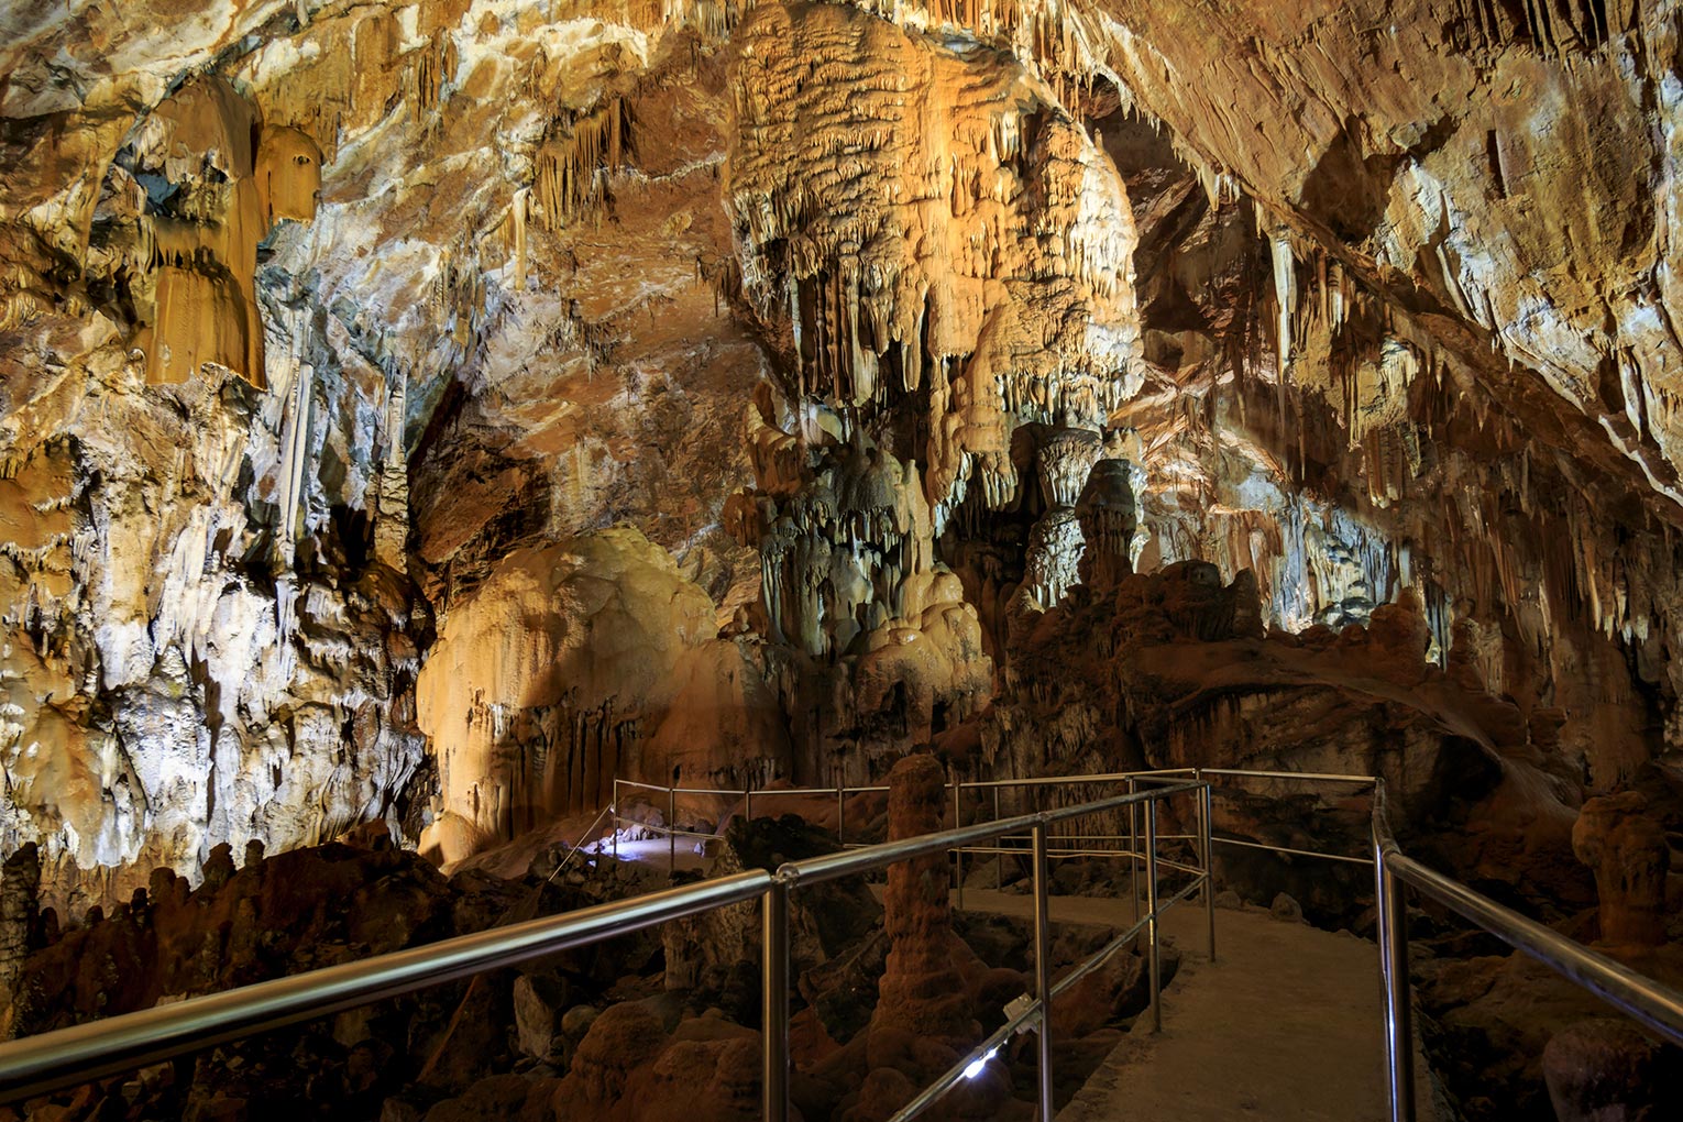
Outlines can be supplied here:
[[[222, 846], [456, 863], [614, 777], [924, 749], [1380, 774], [1436, 863], [1663, 957], [1680, 20], [7, 7], [0, 969]], [[661, 1033], [668, 1082], [567, 1095], [747, 1102], [739, 1033]]]

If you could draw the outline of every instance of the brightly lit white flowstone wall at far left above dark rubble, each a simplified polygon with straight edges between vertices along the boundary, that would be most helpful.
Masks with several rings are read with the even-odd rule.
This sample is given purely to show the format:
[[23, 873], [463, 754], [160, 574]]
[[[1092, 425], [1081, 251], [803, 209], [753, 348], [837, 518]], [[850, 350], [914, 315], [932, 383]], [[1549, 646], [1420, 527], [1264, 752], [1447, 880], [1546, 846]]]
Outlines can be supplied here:
[[[369, 392], [330, 363], [315, 392]], [[0, 562], [0, 819], [10, 844], [42, 844], [61, 905], [123, 897], [155, 863], [197, 873], [217, 843], [279, 849], [399, 818], [421, 764], [426, 616], [365, 555], [367, 516], [345, 505], [365, 481], [313, 481], [288, 565], [276, 434], [305, 421], [229, 373], [143, 384], [121, 362], [54, 402], [64, 434], [0, 483], [19, 527]]]

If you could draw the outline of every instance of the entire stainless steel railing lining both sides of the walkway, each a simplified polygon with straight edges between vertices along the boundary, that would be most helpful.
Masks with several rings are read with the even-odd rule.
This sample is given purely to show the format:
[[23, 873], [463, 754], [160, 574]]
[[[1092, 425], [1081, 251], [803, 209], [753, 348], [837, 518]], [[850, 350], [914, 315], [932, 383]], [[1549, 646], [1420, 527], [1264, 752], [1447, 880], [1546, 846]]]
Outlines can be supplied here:
[[[1212, 834], [1212, 779], [1269, 779], [1330, 784], [1373, 786], [1372, 856], [1319, 853], [1215, 838]], [[1446, 876], [1414, 858], [1397, 844], [1390, 828], [1385, 786], [1368, 775], [1336, 775], [1318, 772], [1262, 772], [1245, 769], [1176, 769], [1175, 772], [1123, 772], [1116, 775], [1079, 775], [1037, 781], [990, 781], [966, 787], [1092, 784], [1121, 781], [1133, 787], [1128, 794], [1097, 799], [1069, 807], [995, 818], [993, 821], [958, 826], [954, 829], [922, 834], [900, 841], [879, 843], [845, 849], [804, 861], [791, 861], [774, 873], [747, 871], [734, 876], [670, 888], [631, 900], [604, 903], [564, 915], [527, 920], [510, 927], [461, 935], [427, 947], [377, 955], [362, 962], [325, 967], [295, 977], [283, 977], [256, 986], [192, 998], [170, 1006], [130, 1013], [104, 1021], [59, 1029], [27, 1040], [0, 1045], [0, 1102], [13, 1102], [32, 1095], [86, 1083], [116, 1072], [145, 1066], [197, 1048], [237, 1040], [298, 1021], [315, 1019], [370, 1001], [412, 992], [470, 974], [581, 947], [614, 935], [629, 934], [656, 924], [688, 915], [698, 915], [732, 903], [762, 902], [762, 967], [764, 967], [764, 1095], [766, 1119], [788, 1120], [789, 1082], [789, 893], [803, 883], [818, 883], [885, 868], [895, 861], [944, 851], [993, 851], [988, 843], [998, 843], [1027, 831], [1030, 848], [1008, 849], [1032, 858], [1035, 895], [1035, 999], [1013, 1014], [1001, 1028], [983, 1040], [951, 1070], [921, 1090], [890, 1122], [911, 1122], [919, 1112], [951, 1090], [964, 1072], [983, 1060], [1017, 1031], [1038, 1029], [1038, 1087], [1037, 1098], [1042, 1117], [1052, 1117], [1052, 1055], [1050, 1055], [1050, 1003], [1106, 959], [1146, 935], [1148, 972], [1151, 984], [1153, 1026], [1161, 1026], [1161, 961], [1158, 918], [1165, 910], [1202, 892], [1208, 917], [1208, 954], [1215, 957], [1213, 925], [1213, 844], [1242, 844], [1277, 853], [1291, 853], [1338, 861], [1372, 863], [1375, 871], [1375, 902], [1378, 913], [1378, 950], [1383, 976], [1383, 1019], [1387, 1045], [1387, 1080], [1392, 1122], [1414, 1122], [1414, 1031], [1409, 999], [1409, 944], [1404, 886], [1437, 900], [1452, 912], [1478, 924], [1510, 945], [1558, 971], [1569, 981], [1589, 989], [1609, 1004], [1636, 1018], [1666, 1040], [1683, 1045], [1683, 992], [1649, 979], [1629, 967], [1572, 942], [1565, 935], [1506, 908], [1488, 897]], [[606, 811], [618, 819], [618, 786], [648, 787], [668, 792], [668, 807], [675, 807], [678, 794], [735, 794], [710, 789], [668, 789], [653, 784], [616, 781], [616, 804]], [[843, 806], [845, 794], [855, 791], [882, 791], [884, 787], [764, 791], [771, 794], [831, 794]], [[1156, 829], [1156, 811], [1163, 799], [1195, 794], [1198, 799], [1197, 833], [1181, 838], [1197, 843], [1200, 865], [1188, 866], [1158, 856], [1158, 843], [1165, 836]], [[752, 796], [749, 796], [752, 797]], [[1054, 851], [1054, 828], [1089, 814], [1126, 809], [1131, 823], [1143, 812], [1144, 844], [1139, 851], [1129, 844], [1131, 865], [1138, 858], [1144, 865], [1146, 910], [1133, 927], [1112, 939], [1106, 947], [1077, 964], [1057, 984], [1050, 981], [1050, 915], [1049, 915], [1049, 856]], [[619, 819], [629, 821], [629, 819]], [[668, 818], [668, 823], [672, 819]], [[838, 819], [842, 821], [842, 819]], [[601, 823], [601, 816], [597, 823]], [[586, 834], [596, 829], [596, 824]], [[682, 831], [693, 833], [693, 831]], [[1133, 831], [1131, 831], [1133, 833]], [[1064, 836], [1062, 841], [1079, 838]], [[1116, 836], [1101, 836], [1114, 841]], [[1185, 870], [1190, 880], [1160, 898], [1161, 868]], [[559, 871], [559, 870], [557, 870]], [[1138, 900], [1138, 893], [1136, 893]]]

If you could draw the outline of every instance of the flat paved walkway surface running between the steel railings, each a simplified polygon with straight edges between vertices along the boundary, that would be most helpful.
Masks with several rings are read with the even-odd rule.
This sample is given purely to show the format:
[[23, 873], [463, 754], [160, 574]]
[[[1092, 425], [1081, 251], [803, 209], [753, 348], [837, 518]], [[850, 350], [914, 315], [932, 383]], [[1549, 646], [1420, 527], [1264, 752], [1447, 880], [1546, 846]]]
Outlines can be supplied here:
[[[964, 907], [1032, 915], [1033, 900], [964, 890]], [[1126, 925], [1126, 898], [1054, 897], [1052, 918]], [[1059, 1122], [1380, 1122], [1387, 1117], [1378, 952], [1346, 932], [1272, 918], [1266, 910], [1215, 913], [1205, 955], [1203, 908], [1163, 917], [1165, 942], [1185, 954], [1163, 992], [1163, 1031], [1129, 1035]], [[1141, 1018], [1139, 1028], [1146, 1028]], [[1434, 1117], [1415, 1056], [1419, 1119]]]

